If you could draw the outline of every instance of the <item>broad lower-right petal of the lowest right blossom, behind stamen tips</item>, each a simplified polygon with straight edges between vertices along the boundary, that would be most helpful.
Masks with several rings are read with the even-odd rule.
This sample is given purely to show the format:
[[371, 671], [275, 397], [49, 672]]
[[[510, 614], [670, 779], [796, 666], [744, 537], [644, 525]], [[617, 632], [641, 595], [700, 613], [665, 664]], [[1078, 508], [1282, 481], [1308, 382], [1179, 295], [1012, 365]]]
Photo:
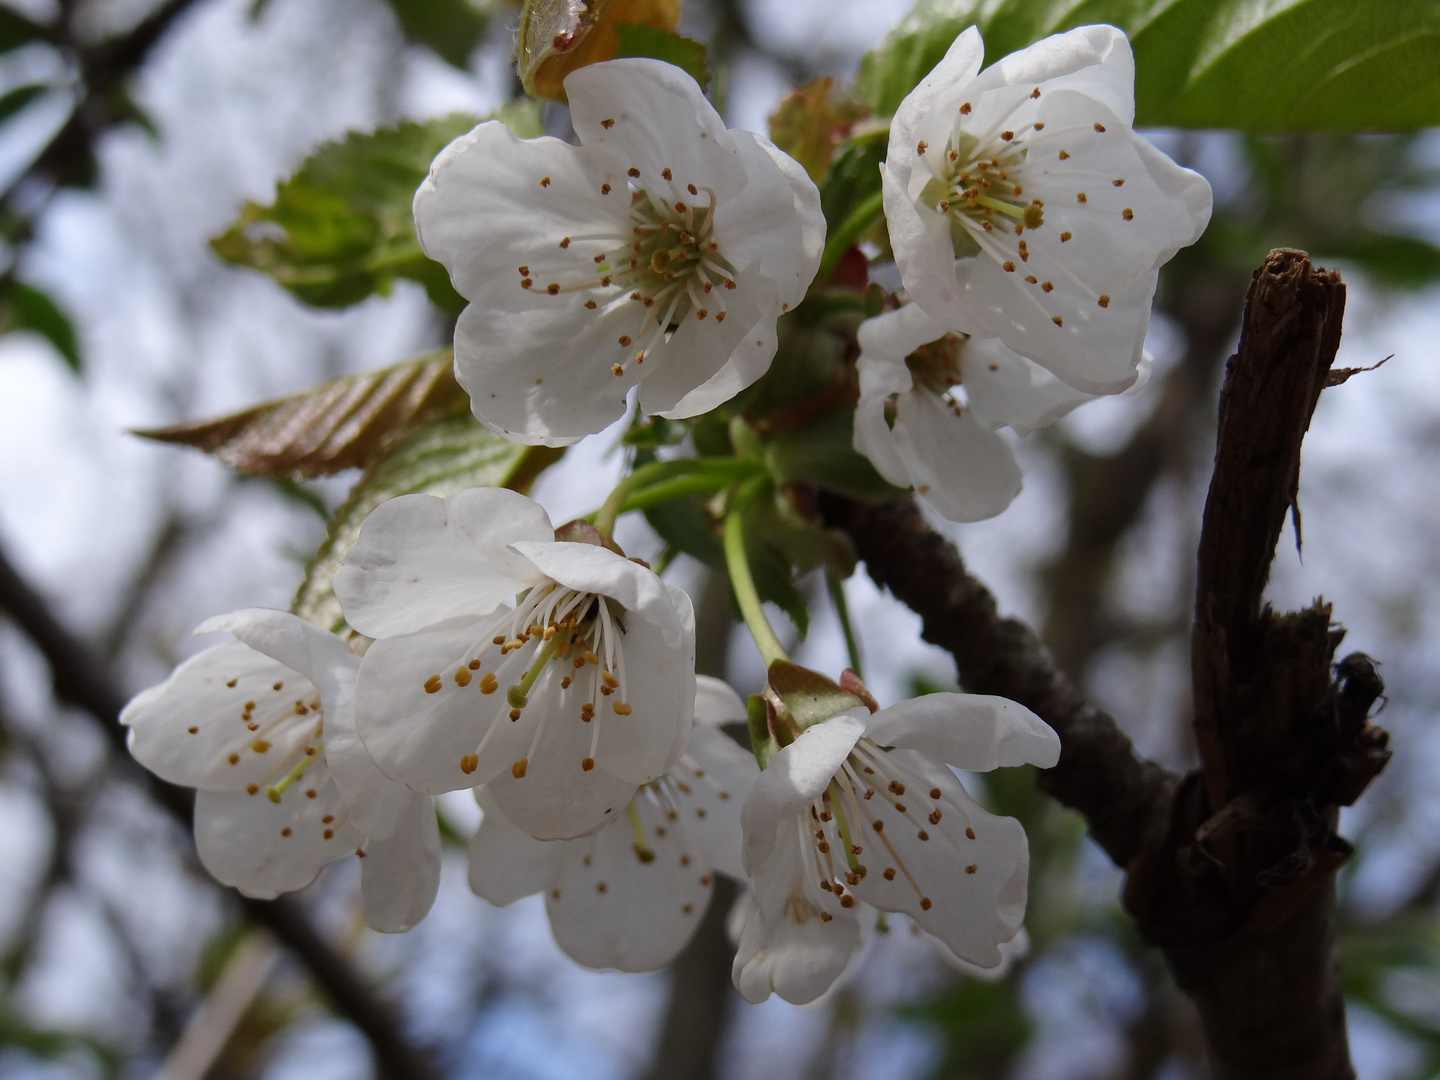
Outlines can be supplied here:
[[886, 757], [891, 772], [912, 779], [860, 804], [867, 873], [852, 886], [855, 896], [910, 916], [962, 960], [996, 966], [999, 943], [1025, 914], [1025, 829], [984, 811], [949, 769], [914, 750]]

